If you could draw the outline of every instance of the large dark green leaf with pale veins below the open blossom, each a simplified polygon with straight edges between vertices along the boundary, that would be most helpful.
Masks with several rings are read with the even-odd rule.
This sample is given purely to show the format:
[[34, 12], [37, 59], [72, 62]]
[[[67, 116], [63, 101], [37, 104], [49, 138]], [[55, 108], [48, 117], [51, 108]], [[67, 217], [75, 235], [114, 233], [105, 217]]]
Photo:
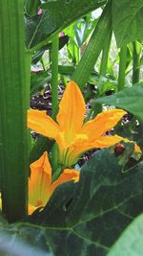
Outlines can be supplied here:
[[[59, 186], [46, 208], [31, 216], [30, 226], [39, 228], [54, 256], [104, 256], [141, 213], [143, 162], [129, 172], [121, 170], [112, 151], [95, 152], [80, 182]], [[19, 228], [26, 231], [24, 223]]]

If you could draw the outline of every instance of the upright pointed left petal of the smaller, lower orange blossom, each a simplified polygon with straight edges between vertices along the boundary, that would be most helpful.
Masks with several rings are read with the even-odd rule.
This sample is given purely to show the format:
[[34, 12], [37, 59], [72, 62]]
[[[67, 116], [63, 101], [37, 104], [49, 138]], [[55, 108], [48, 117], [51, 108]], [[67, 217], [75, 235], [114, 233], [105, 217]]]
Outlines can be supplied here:
[[46, 204], [50, 195], [51, 186], [51, 165], [48, 153], [43, 155], [31, 164], [31, 178], [29, 179], [29, 202], [33, 206]]

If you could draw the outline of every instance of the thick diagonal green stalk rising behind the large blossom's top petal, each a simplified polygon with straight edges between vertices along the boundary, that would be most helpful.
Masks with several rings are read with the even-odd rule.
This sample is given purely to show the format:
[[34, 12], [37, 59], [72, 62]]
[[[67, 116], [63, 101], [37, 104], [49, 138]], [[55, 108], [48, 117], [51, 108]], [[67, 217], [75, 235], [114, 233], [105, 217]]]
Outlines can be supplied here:
[[91, 40], [85, 50], [85, 53], [79, 61], [75, 72], [73, 73], [72, 80], [75, 81], [81, 89], [84, 87], [92, 73], [94, 64], [103, 48], [103, 42], [105, 41], [106, 36], [111, 33], [111, 10], [112, 1], [109, 1], [101, 14], [95, 30], [92, 33]]

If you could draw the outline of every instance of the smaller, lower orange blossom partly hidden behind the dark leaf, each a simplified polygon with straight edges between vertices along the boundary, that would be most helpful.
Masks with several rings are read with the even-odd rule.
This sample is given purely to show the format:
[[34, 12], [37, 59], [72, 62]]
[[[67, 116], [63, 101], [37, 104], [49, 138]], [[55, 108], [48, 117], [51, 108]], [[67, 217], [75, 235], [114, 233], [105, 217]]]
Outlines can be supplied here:
[[64, 172], [51, 183], [51, 164], [48, 153], [43, 155], [31, 164], [31, 177], [29, 178], [29, 215], [38, 207], [44, 207], [55, 188], [60, 184], [73, 180], [79, 180], [79, 172], [66, 169]]

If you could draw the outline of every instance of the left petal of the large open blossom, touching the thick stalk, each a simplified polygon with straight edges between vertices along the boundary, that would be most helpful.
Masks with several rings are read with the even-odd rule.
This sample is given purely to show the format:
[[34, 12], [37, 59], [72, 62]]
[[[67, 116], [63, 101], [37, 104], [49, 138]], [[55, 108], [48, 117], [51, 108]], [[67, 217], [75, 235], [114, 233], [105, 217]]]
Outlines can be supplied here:
[[47, 115], [46, 111], [28, 110], [28, 128], [43, 136], [55, 138], [60, 131], [59, 126]]

